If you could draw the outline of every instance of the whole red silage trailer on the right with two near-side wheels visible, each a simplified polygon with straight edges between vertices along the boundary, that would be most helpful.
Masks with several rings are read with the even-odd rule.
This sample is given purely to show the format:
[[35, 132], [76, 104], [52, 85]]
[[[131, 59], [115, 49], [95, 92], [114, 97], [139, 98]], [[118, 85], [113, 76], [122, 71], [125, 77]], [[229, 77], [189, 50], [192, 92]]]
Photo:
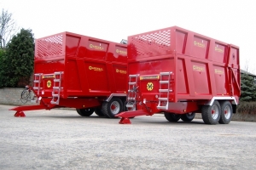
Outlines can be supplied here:
[[162, 113], [169, 122], [230, 123], [239, 102], [239, 48], [173, 26], [128, 37], [128, 91], [119, 123]]

